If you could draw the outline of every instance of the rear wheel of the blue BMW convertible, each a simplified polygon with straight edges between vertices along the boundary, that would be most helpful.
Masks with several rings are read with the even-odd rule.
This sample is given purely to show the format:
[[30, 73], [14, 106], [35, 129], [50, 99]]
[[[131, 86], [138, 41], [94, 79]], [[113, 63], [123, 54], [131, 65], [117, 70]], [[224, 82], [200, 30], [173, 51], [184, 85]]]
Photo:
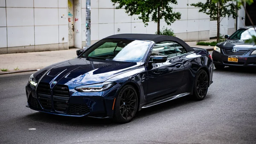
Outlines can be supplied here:
[[209, 77], [206, 71], [200, 70], [195, 76], [193, 96], [196, 100], [203, 100], [207, 94]]

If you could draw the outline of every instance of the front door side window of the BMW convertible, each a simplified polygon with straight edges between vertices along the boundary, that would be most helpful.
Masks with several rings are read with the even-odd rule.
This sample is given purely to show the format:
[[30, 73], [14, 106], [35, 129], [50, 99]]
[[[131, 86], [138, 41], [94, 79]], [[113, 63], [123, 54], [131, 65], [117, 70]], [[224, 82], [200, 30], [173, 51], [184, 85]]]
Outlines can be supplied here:
[[163, 56], [167, 56], [168, 58], [177, 56], [176, 50], [175, 50], [175, 43], [174, 42], [157, 43], [155, 44], [151, 55], [152, 56], [163, 55]]

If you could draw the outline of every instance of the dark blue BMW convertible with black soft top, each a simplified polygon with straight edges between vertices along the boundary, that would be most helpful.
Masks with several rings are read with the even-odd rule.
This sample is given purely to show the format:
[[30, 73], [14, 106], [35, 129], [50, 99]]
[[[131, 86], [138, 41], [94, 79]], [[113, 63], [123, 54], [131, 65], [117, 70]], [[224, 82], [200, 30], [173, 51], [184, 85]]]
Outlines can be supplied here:
[[125, 123], [143, 108], [182, 96], [202, 100], [212, 83], [208, 51], [176, 37], [118, 34], [77, 55], [30, 76], [27, 107]]

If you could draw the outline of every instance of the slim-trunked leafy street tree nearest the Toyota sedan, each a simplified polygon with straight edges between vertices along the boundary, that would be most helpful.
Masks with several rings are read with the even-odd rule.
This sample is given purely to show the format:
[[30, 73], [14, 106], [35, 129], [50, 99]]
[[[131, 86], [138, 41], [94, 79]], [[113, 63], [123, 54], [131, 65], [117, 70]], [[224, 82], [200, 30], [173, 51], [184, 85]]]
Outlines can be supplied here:
[[230, 17], [234, 19], [238, 17], [236, 9], [240, 9], [239, 6], [236, 6], [232, 2], [233, 0], [207, 0], [206, 3], [192, 3], [191, 6], [199, 8], [199, 12], [203, 12], [210, 16], [211, 19], [217, 20], [217, 42], [220, 39], [220, 23], [221, 17]]

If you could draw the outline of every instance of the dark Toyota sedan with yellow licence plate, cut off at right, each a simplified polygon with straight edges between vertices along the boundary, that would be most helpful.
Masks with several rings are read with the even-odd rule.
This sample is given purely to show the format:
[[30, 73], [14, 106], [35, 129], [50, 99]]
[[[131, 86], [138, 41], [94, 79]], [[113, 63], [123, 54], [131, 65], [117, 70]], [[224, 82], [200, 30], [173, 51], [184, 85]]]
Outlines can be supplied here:
[[230, 37], [225, 36], [225, 42], [220, 42], [214, 47], [212, 59], [217, 69], [225, 66], [256, 67], [256, 46], [245, 41], [256, 36], [252, 26], [237, 30]]

